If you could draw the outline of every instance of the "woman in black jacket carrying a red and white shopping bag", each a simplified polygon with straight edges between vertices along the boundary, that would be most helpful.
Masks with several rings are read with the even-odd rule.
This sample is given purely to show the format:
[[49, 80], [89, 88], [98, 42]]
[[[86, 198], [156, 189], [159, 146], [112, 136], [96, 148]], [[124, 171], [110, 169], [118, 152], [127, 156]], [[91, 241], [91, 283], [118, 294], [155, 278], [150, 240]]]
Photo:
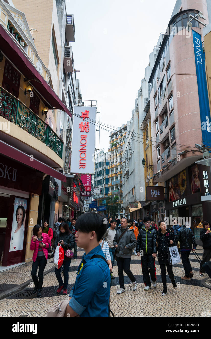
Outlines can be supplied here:
[[57, 234], [56, 240], [54, 243], [55, 248], [56, 246], [58, 246], [58, 243], [64, 248], [64, 261], [63, 261], [64, 283], [61, 278], [61, 267], [59, 269], [55, 268], [56, 278], [59, 283], [59, 287], [56, 293], [60, 293], [61, 290], [64, 288], [63, 294], [67, 294], [67, 286], [68, 286], [68, 280], [69, 280], [69, 267], [71, 264], [71, 259], [65, 256], [65, 252], [67, 249], [71, 249], [73, 247], [74, 241], [73, 241], [73, 236], [70, 233], [69, 226], [66, 222], [63, 222], [59, 225], [59, 234]]

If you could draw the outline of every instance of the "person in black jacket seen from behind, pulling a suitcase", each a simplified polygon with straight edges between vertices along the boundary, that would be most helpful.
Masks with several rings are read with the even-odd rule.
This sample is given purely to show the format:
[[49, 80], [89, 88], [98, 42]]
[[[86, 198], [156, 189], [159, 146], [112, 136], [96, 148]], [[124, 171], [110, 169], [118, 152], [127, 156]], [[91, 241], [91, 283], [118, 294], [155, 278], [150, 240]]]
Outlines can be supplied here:
[[189, 260], [189, 255], [191, 253], [192, 244], [193, 251], [195, 251], [197, 244], [193, 232], [189, 227], [183, 225], [179, 228], [174, 237], [173, 246], [175, 246], [178, 243], [178, 241], [181, 249], [181, 259], [185, 273], [184, 277], [181, 277], [181, 279], [191, 280], [191, 278], [193, 277], [193, 271]]

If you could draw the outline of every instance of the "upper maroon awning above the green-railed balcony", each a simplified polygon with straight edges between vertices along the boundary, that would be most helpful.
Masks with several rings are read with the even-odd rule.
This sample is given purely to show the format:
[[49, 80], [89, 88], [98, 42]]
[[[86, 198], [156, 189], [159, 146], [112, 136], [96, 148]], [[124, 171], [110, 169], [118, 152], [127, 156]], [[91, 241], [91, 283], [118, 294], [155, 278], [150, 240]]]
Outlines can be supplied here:
[[[24, 75], [24, 77], [30, 80], [32, 86], [40, 92], [46, 101], [52, 107], [49, 108], [58, 108], [61, 111], [66, 112], [70, 117], [72, 114], [65, 104], [59, 99], [57, 94], [53, 91], [51, 86], [47, 81], [41, 76], [37, 71], [36, 67], [29, 60], [28, 56], [23, 51], [23, 48], [17, 43], [15, 38], [11, 34], [8, 34], [8, 31], [0, 24], [0, 51], [4, 53], [14, 65], [17, 65], [19, 71]], [[33, 80], [31, 80], [33, 79]], [[27, 87], [27, 85], [26, 85]]]

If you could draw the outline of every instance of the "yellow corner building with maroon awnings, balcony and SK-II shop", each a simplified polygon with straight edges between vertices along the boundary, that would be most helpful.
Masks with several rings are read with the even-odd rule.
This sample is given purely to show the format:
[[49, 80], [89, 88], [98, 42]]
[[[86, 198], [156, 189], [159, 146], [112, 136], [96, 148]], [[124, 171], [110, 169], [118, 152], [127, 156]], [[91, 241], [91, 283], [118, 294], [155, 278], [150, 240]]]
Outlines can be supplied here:
[[[50, 86], [51, 73], [37, 52], [24, 13], [3, 1], [0, 46], [0, 217], [4, 220], [0, 255], [2, 266], [10, 266], [32, 260], [29, 246], [46, 175], [52, 178], [47, 187], [52, 197], [58, 194], [53, 178], [66, 181], [58, 172], [64, 167], [63, 140], [55, 133], [56, 125], [51, 128], [46, 122], [46, 115], [55, 108], [71, 113]], [[54, 87], [58, 88], [56, 83]], [[17, 240], [19, 206], [25, 214]]]

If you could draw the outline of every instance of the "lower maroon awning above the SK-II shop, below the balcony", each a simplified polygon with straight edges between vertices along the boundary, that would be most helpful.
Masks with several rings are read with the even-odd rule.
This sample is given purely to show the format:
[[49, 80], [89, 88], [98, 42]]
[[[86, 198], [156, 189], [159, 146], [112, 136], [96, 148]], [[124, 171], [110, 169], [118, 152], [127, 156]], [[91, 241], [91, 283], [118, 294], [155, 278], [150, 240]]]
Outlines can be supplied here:
[[38, 171], [46, 173], [55, 179], [67, 182], [66, 176], [61, 172], [56, 171], [52, 167], [44, 164], [43, 162], [35, 158], [33, 159], [33, 161], [31, 161], [30, 160], [31, 157], [28, 154], [19, 151], [19, 149], [8, 145], [1, 140], [0, 140], [0, 153], [14, 160], [17, 160], [25, 165], [28, 165], [32, 168], [38, 169]]

